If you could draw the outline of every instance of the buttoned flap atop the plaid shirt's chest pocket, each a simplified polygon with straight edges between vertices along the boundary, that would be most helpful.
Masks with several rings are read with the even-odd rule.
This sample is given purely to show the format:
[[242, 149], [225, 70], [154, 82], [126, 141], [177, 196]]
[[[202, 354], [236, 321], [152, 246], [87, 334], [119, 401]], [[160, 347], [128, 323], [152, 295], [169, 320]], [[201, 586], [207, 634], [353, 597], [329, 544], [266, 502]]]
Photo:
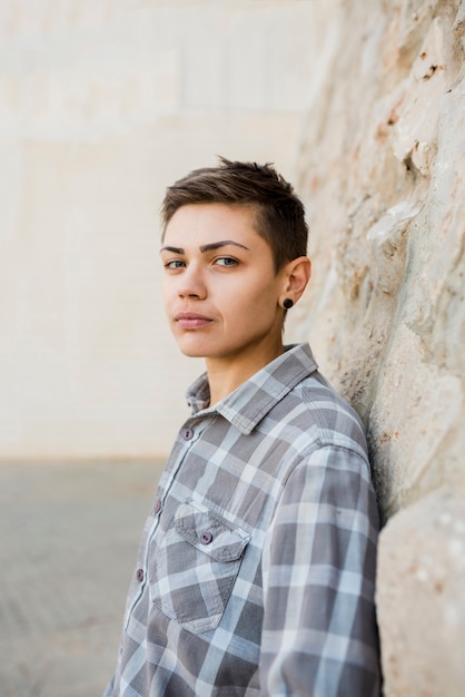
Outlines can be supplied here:
[[185, 540], [217, 561], [239, 559], [250, 540], [248, 532], [195, 501], [178, 508], [175, 527]]

